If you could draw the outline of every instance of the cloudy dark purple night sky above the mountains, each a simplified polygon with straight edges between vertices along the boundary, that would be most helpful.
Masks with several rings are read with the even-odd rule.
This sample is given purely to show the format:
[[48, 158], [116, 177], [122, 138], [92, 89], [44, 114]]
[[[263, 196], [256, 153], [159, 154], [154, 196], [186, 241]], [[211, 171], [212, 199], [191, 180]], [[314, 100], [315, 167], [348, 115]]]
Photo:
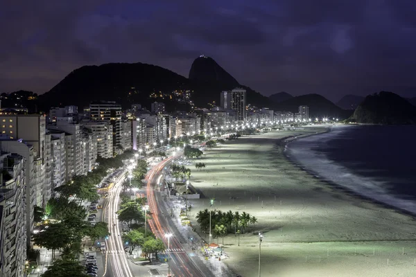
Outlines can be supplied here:
[[268, 96], [416, 96], [416, 1], [1, 1], [0, 92], [49, 91], [86, 64], [188, 77], [210, 56]]

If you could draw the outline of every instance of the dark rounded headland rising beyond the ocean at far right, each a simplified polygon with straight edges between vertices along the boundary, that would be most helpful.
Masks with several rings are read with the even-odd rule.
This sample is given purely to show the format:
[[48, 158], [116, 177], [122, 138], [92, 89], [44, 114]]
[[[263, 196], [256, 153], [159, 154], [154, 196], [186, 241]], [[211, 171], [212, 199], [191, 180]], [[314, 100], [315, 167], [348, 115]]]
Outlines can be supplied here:
[[416, 107], [395, 93], [381, 91], [367, 96], [350, 119], [366, 124], [416, 124]]

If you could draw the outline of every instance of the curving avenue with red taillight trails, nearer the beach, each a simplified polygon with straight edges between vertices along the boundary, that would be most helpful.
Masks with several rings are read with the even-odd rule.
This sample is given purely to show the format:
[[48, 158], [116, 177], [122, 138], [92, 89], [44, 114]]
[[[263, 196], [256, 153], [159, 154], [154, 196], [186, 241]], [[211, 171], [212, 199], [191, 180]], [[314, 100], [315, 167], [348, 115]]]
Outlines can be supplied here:
[[[179, 156], [176, 156], [179, 157]], [[164, 205], [158, 204], [162, 202], [162, 199], [159, 199], [160, 193], [155, 192], [155, 185], [157, 180], [162, 176], [162, 170], [165, 166], [168, 166], [176, 157], [170, 157], [165, 159], [157, 166], [152, 168], [148, 175], [146, 175], [147, 180], [147, 197], [148, 205], [150, 207], [150, 212], [152, 213], [152, 218], [148, 220], [150, 229], [155, 233], [157, 238], [162, 239], [166, 247], [168, 246], [168, 240], [165, 237], [166, 233], [172, 233], [170, 239], [170, 249], [167, 249], [166, 252], [170, 253], [171, 260], [169, 261], [171, 267], [172, 276], [181, 276], [181, 277], [210, 277], [214, 274], [205, 266], [205, 264], [194, 254], [189, 255], [187, 250], [182, 246], [181, 239], [182, 235], [175, 227], [175, 224], [172, 222], [172, 218], [168, 217], [168, 211], [164, 209]], [[189, 251], [190, 253], [192, 251]]]

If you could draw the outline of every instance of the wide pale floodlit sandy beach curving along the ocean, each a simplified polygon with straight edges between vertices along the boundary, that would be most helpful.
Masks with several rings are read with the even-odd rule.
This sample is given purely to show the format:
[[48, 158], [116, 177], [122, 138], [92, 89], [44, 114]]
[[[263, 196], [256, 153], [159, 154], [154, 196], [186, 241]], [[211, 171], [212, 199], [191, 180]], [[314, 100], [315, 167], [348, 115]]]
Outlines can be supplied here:
[[[415, 276], [416, 222], [413, 217], [335, 188], [287, 161], [279, 139], [323, 132], [322, 127], [243, 136], [207, 150], [205, 170], [192, 163], [191, 183], [206, 196], [191, 200], [198, 211], [250, 213], [258, 219], [253, 235], [224, 238], [236, 274], [258, 276]], [[214, 240], [216, 242], [216, 240]], [[221, 242], [221, 240], [220, 240]]]

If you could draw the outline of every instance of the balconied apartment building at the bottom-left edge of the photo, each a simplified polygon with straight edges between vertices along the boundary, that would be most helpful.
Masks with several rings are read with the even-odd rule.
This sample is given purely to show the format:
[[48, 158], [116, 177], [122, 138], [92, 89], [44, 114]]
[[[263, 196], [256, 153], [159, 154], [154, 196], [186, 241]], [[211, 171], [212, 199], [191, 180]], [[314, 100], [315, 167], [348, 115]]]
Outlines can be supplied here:
[[26, 205], [24, 159], [1, 154], [0, 276], [24, 276], [26, 262]]

